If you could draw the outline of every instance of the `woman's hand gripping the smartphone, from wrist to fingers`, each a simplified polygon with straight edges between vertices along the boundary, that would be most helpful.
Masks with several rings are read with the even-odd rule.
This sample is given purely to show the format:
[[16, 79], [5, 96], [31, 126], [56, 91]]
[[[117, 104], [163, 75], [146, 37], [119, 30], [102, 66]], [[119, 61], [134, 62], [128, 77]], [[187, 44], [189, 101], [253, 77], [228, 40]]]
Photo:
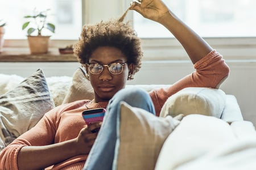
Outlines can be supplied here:
[[89, 154], [98, 135], [98, 130], [101, 128], [101, 124], [102, 122], [94, 122], [89, 126], [86, 125], [80, 130], [80, 133], [76, 138], [76, 146], [80, 154]]

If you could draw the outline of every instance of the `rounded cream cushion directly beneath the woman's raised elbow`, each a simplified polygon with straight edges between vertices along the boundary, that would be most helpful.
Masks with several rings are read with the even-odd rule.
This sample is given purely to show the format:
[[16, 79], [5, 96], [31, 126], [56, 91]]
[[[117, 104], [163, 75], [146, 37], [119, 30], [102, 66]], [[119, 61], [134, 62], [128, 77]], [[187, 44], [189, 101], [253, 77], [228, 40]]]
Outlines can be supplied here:
[[225, 92], [220, 89], [188, 87], [169, 97], [159, 116], [203, 114], [220, 118], [225, 103]]

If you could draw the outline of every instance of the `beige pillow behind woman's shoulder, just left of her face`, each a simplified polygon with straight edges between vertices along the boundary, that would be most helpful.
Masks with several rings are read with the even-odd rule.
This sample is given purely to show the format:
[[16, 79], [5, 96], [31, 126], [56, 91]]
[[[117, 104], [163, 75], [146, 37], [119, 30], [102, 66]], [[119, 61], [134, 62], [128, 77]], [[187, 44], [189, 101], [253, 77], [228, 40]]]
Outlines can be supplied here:
[[84, 70], [79, 67], [73, 74], [72, 85], [63, 100], [63, 104], [84, 99], [94, 99], [94, 92], [90, 81], [85, 77]]

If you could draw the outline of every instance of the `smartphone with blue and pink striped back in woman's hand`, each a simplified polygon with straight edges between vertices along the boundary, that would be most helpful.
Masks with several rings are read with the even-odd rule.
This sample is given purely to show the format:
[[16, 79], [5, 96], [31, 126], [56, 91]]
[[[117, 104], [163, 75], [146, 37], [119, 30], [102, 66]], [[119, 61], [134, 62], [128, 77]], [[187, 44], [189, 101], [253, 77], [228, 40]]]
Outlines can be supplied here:
[[106, 109], [104, 108], [96, 108], [96, 109], [89, 109], [82, 112], [82, 117], [86, 125], [90, 125], [92, 122], [103, 121]]

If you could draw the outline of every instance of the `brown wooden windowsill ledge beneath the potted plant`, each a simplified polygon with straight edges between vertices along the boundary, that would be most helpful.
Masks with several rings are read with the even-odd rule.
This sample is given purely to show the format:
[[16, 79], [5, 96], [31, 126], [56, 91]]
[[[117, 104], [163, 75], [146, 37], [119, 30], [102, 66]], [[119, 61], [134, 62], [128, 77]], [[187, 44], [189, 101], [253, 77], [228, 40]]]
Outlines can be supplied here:
[[73, 54], [60, 54], [56, 48], [50, 48], [47, 54], [30, 54], [28, 48], [4, 48], [0, 62], [77, 62], [77, 59]]

